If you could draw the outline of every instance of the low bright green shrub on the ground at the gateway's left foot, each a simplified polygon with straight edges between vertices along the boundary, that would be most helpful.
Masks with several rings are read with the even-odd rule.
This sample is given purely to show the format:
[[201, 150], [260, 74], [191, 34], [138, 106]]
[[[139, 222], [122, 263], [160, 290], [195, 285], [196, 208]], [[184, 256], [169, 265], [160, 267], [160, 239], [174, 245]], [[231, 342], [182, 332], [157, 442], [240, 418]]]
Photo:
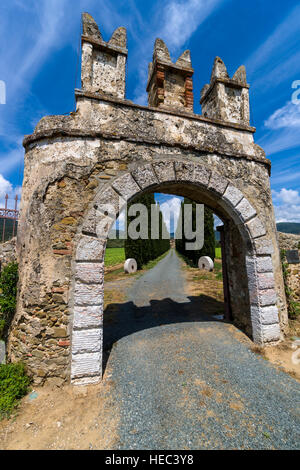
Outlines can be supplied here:
[[30, 379], [22, 363], [0, 364], [0, 419], [8, 417], [26, 395]]

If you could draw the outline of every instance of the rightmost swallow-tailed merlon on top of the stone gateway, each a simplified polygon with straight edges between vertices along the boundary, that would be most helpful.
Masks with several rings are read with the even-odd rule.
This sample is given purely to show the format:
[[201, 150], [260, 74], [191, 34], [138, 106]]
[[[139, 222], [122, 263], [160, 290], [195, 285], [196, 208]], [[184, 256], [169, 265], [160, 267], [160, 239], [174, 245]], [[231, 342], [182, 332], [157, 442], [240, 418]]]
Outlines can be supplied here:
[[216, 57], [210, 83], [201, 91], [203, 116], [226, 122], [249, 125], [249, 85], [242, 65], [232, 78], [220, 57]]

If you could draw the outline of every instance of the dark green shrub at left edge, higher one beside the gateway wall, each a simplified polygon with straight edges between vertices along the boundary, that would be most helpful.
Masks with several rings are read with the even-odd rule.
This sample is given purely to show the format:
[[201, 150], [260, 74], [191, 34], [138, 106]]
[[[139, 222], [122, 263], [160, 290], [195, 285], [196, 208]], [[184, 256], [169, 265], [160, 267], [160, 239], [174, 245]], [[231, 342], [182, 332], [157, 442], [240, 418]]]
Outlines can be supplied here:
[[18, 264], [6, 265], [0, 274], [0, 338], [8, 329], [16, 310]]

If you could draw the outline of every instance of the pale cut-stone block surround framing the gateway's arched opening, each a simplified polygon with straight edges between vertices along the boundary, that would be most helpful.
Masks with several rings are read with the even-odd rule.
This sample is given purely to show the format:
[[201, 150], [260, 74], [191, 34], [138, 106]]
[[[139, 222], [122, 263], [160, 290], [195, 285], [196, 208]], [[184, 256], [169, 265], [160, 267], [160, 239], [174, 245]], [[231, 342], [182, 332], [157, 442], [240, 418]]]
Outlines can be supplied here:
[[[102, 376], [104, 253], [106, 238], [97, 237], [111, 222], [107, 205], [117, 214], [122, 204], [149, 189], [176, 192], [192, 190], [195, 200], [215, 200], [215, 210], [222, 212], [238, 227], [245, 247], [249, 312], [254, 342], [264, 344], [280, 339], [272, 264], [272, 243], [266, 229], [243, 193], [227, 178], [204, 165], [184, 159], [158, 159], [138, 165], [111, 184], [105, 185], [94, 198], [79, 235], [74, 269], [74, 316], [72, 332], [73, 383], [93, 383]], [[197, 194], [198, 192], [198, 194]], [[203, 200], [203, 198], [202, 198]]]

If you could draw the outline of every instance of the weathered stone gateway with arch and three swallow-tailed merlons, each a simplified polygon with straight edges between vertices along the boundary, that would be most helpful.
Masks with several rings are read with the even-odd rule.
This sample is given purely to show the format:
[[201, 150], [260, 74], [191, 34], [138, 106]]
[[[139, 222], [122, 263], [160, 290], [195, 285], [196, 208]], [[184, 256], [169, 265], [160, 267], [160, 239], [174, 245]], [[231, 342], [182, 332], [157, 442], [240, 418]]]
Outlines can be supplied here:
[[[105, 42], [83, 15], [76, 112], [41, 119], [24, 139], [17, 250], [20, 283], [8, 354], [36, 384], [102, 377], [104, 254], [113, 219], [101, 207], [144, 192], [186, 196], [224, 222], [234, 324], [258, 344], [288, 327], [270, 191], [270, 161], [254, 143], [245, 68], [216, 58], [193, 113], [189, 51], [174, 63], [157, 39], [149, 106], [125, 97], [126, 30]], [[97, 227], [101, 226], [101, 237]]]

